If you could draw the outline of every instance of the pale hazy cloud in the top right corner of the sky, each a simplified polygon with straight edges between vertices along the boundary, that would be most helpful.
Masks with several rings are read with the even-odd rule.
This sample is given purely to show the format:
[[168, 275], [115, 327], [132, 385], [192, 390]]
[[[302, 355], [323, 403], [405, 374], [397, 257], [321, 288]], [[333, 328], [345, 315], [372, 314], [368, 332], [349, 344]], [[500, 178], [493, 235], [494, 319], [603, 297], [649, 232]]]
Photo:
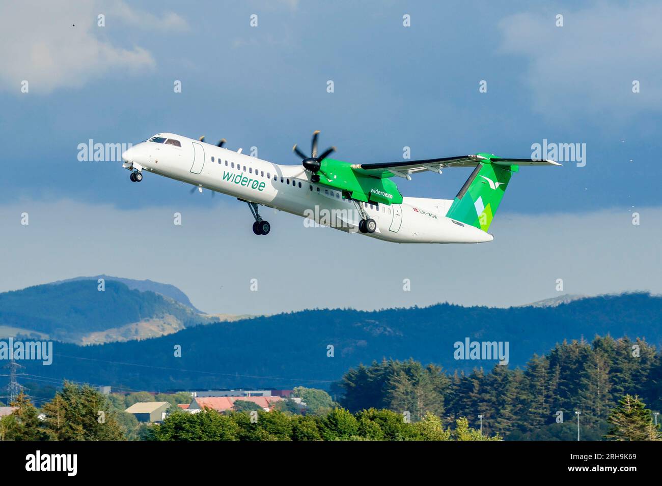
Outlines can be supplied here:
[[[526, 56], [535, 108], [550, 116], [617, 115], [662, 109], [662, 4], [596, 3], [501, 20], [500, 51]], [[563, 15], [563, 27], [555, 26]], [[632, 93], [632, 81], [641, 92]]]

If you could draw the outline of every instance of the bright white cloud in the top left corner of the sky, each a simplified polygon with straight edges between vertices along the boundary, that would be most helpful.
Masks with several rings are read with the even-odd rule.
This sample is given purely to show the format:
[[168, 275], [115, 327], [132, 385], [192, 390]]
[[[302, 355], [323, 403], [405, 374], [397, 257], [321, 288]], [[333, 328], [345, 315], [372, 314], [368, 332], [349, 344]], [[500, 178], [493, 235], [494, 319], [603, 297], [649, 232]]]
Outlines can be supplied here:
[[[97, 15], [142, 28], [183, 30], [175, 14], [158, 18], [124, 3], [21, 1], [0, 4], [0, 89], [47, 94], [63, 87], [81, 87], [110, 71], [137, 73], [156, 61], [140, 46], [124, 48], [104, 38]], [[115, 15], [115, 17], [112, 17]]]

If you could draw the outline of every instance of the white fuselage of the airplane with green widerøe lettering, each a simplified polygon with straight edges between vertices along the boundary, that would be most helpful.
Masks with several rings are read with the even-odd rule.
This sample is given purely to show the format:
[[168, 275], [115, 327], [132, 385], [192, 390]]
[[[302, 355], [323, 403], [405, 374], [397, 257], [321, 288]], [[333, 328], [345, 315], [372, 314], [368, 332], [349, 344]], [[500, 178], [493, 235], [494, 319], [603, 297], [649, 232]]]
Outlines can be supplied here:
[[[176, 140], [181, 146], [138, 143], [122, 154], [124, 167], [296, 214], [310, 220], [310, 225], [358, 232], [361, 216], [354, 202], [343, 198], [339, 190], [310, 182], [301, 165], [280, 165], [176, 134], [157, 136]], [[405, 197], [402, 204], [359, 204], [377, 223], [374, 233], [366, 233], [373, 238], [397, 243], [492, 241], [489, 233], [446, 218], [451, 202]]]

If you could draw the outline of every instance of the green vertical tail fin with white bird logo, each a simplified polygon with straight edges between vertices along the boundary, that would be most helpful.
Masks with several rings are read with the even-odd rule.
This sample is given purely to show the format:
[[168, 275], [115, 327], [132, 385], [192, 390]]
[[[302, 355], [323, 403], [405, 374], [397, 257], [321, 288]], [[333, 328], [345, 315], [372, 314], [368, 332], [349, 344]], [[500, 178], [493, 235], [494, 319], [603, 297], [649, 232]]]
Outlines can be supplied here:
[[510, 176], [518, 167], [481, 162], [455, 196], [446, 216], [487, 231], [496, 214]]

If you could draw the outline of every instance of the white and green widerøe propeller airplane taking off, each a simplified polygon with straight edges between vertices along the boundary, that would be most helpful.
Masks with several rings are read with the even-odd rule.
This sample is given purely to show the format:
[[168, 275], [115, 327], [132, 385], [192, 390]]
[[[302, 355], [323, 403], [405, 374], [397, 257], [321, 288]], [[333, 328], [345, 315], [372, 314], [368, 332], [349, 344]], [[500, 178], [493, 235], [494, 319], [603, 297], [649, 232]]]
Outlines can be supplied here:
[[[253, 215], [253, 232], [267, 235], [271, 225], [260, 206], [326, 225], [395, 243], [483, 243], [488, 229], [520, 165], [561, 165], [542, 159], [504, 159], [492, 153], [425, 160], [352, 164], [329, 156], [336, 147], [318, 153], [319, 131], [312, 135], [310, 155], [297, 145], [301, 165], [281, 165], [177, 134], [160, 133], [122, 153], [130, 180], [142, 181], [143, 171], [234, 196]], [[402, 196], [394, 177], [411, 180], [426, 171], [473, 167], [453, 199]], [[214, 194], [214, 193], [212, 193]]]

